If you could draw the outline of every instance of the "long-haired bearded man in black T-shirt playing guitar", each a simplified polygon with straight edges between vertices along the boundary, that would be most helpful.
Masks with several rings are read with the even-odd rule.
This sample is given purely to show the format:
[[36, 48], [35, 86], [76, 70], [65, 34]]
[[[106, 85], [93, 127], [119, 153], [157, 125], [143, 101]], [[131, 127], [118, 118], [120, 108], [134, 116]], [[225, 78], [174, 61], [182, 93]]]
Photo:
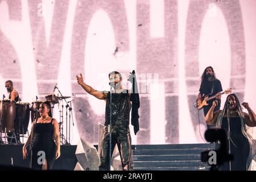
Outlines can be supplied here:
[[[197, 101], [201, 102], [204, 100], [206, 96], [211, 97], [217, 94], [216, 98], [213, 98], [212, 100], [209, 100], [207, 103], [208, 105], [204, 106], [204, 115], [206, 115], [210, 109], [210, 107], [213, 104], [213, 101], [217, 100], [218, 105], [214, 108], [214, 112], [217, 110], [220, 110], [221, 106], [221, 81], [218, 80], [215, 76], [215, 73], [213, 71], [212, 67], [207, 67], [204, 70], [204, 73], [202, 73], [201, 76], [201, 85], [199, 89], [199, 94], [197, 96]], [[210, 129], [213, 126], [207, 125], [207, 129]]]

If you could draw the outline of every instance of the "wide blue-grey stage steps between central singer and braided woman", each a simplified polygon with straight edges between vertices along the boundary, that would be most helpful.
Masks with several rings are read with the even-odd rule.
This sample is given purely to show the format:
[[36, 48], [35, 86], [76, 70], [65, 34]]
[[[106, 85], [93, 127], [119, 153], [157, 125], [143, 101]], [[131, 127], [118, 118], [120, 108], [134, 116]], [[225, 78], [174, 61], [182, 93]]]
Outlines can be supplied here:
[[214, 150], [215, 143], [135, 145], [133, 169], [140, 171], [209, 171], [201, 152]]

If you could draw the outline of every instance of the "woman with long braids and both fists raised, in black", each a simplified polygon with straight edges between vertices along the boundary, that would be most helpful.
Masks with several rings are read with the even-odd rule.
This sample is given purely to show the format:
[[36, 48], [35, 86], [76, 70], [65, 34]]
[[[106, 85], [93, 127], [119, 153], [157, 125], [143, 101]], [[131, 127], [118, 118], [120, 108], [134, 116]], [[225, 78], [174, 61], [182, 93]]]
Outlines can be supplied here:
[[[205, 117], [205, 121], [208, 125], [216, 125], [217, 128], [226, 131], [227, 152], [230, 152], [234, 158], [230, 163], [224, 163], [220, 167], [220, 170], [246, 171], [250, 165], [248, 159], [251, 150], [250, 142], [253, 139], [250, 134], [247, 133], [247, 126], [256, 126], [256, 115], [247, 102], [243, 102], [242, 105], [247, 109], [248, 113], [243, 112], [240, 102], [235, 94], [227, 96], [224, 109], [217, 110], [214, 113], [214, 108], [218, 105], [217, 102], [218, 101], [213, 101], [213, 105], [210, 107], [210, 110]], [[228, 118], [230, 122], [228, 122]], [[229, 133], [230, 137], [228, 137]]]

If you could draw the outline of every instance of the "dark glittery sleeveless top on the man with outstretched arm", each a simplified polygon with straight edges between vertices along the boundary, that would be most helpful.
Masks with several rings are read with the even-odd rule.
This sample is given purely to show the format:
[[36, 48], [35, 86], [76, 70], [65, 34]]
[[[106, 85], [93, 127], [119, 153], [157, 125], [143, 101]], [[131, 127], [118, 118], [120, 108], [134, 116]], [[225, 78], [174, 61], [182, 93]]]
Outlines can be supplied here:
[[105, 107], [105, 126], [110, 124], [110, 117], [112, 125], [129, 125], [130, 111], [131, 102], [128, 90], [121, 93], [108, 92]]

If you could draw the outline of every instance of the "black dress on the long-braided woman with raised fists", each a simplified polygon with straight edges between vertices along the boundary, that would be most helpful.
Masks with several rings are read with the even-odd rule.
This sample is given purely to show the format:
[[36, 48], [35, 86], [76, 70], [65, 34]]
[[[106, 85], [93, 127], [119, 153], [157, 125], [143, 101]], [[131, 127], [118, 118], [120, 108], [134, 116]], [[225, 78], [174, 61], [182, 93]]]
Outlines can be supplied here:
[[[222, 129], [227, 133], [228, 125], [227, 118], [222, 119]], [[243, 136], [241, 131], [241, 120], [239, 117], [230, 117], [230, 148], [231, 154], [234, 160], [231, 161], [232, 171], [246, 171], [247, 170], [247, 159], [250, 153], [249, 140]], [[227, 140], [227, 142], [229, 142]], [[234, 145], [235, 144], [235, 145]], [[227, 150], [229, 144], [227, 143]], [[225, 163], [220, 170], [229, 171], [229, 163]]]

